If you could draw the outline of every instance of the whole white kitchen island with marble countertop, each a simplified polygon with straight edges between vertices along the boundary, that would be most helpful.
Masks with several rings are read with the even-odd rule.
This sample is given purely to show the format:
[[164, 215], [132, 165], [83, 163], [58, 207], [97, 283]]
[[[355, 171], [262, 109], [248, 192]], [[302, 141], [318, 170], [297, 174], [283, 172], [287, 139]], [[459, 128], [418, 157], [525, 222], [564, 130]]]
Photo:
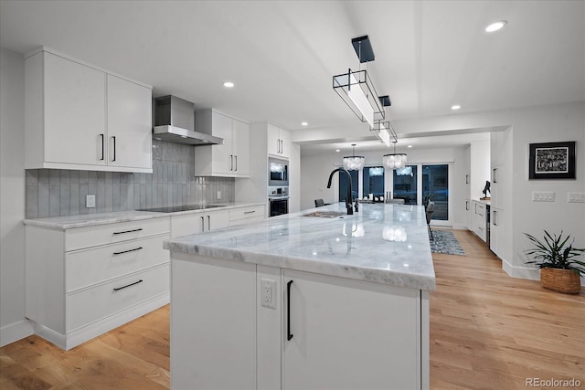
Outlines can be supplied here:
[[429, 387], [424, 209], [345, 211], [165, 242], [174, 388]]

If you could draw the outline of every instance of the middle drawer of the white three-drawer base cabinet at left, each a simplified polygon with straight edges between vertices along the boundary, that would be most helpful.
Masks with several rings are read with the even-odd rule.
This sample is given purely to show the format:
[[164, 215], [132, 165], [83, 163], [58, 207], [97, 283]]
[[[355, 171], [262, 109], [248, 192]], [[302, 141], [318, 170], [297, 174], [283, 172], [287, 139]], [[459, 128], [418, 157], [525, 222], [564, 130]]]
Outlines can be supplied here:
[[163, 249], [163, 241], [168, 238], [166, 234], [69, 252], [65, 257], [66, 290], [168, 262], [169, 251]]

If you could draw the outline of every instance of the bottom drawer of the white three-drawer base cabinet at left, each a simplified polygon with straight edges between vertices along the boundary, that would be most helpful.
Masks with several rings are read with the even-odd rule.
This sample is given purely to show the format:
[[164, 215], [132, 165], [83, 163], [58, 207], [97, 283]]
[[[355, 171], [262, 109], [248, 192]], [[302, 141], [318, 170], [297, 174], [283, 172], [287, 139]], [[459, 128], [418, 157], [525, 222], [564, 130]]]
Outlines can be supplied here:
[[165, 264], [90, 289], [67, 294], [66, 332], [128, 309], [137, 303], [163, 294], [168, 289], [169, 266]]

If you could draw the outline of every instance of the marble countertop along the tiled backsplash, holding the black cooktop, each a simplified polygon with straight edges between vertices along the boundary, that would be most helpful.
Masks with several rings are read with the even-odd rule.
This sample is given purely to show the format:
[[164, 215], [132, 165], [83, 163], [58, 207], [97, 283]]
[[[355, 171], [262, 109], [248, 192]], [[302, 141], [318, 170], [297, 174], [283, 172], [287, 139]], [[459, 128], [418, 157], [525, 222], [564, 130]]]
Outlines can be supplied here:
[[214, 203], [212, 205], [218, 205], [222, 207], [213, 207], [201, 210], [187, 210], [177, 211], [174, 213], [160, 213], [152, 211], [117, 211], [112, 213], [94, 213], [94, 214], [81, 214], [78, 216], [53, 216], [49, 218], [35, 218], [35, 219], [24, 219], [25, 225], [33, 225], [37, 227], [48, 227], [52, 229], [71, 229], [76, 227], [95, 227], [106, 224], [116, 224], [121, 222], [132, 222], [142, 219], [150, 218], [161, 218], [165, 216], [180, 216], [184, 214], [194, 213], [209, 213], [212, 211], [229, 210], [232, 208], [246, 207], [246, 206], [258, 206], [264, 205], [263, 203], [243, 203], [243, 202], [229, 202], [229, 203]]

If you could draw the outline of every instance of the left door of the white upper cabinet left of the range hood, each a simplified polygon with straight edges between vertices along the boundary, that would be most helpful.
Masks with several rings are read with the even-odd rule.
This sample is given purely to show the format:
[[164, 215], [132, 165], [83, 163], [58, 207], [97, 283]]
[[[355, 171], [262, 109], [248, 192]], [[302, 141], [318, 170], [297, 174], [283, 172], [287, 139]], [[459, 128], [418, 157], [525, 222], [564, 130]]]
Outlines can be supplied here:
[[45, 53], [45, 162], [105, 165], [106, 75]]

